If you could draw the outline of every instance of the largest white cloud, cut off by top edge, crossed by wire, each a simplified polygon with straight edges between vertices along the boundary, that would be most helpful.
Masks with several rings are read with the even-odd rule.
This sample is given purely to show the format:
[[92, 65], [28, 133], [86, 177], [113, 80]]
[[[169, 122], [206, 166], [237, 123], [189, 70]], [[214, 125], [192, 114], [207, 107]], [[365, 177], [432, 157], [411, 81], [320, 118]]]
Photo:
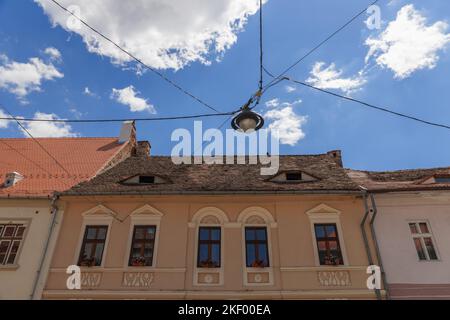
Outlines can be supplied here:
[[[266, 2], [265, 0], [264, 2]], [[54, 25], [82, 36], [90, 52], [115, 63], [131, 59], [85, 26], [74, 23], [51, 1], [35, 0]], [[154, 68], [209, 64], [237, 40], [259, 0], [60, 0], [77, 15]]]

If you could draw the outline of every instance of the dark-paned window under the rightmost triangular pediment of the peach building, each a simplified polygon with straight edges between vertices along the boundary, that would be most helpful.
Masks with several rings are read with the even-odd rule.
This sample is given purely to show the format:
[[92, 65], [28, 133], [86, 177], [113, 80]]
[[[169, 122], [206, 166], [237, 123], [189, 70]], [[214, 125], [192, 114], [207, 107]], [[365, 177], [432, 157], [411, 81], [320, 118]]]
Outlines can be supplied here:
[[314, 224], [320, 265], [342, 265], [341, 246], [336, 224]]

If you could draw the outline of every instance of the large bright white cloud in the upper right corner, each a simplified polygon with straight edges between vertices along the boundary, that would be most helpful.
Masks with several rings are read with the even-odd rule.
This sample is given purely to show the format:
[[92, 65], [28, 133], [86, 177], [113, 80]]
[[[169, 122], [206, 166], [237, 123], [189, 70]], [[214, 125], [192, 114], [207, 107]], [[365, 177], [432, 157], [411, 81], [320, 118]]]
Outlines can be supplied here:
[[433, 69], [439, 60], [438, 51], [450, 42], [448, 24], [438, 21], [427, 26], [427, 19], [412, 4], [402, 7], [395, 20], [377, 37], [369, 37], [366, 63], [371, 57], [383, 68], [404, 79], [421, 69]]

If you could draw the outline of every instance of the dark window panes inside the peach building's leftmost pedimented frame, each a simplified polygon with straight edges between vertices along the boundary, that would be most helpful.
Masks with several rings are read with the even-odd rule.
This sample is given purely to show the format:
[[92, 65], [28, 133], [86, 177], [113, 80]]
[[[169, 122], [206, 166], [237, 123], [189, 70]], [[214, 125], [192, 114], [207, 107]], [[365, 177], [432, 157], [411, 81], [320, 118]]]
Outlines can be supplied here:
[[86, 226], [78, 265], [94, 267], [102, 264], [108, 226]]

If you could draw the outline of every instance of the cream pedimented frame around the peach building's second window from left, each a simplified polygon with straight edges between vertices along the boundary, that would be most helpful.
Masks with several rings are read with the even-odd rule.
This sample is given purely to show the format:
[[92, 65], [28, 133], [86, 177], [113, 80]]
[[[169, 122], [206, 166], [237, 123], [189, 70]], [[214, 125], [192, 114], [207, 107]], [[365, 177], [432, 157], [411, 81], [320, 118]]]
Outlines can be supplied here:
[[[124, 268], [130, 269], [130, 270], [152, 270], [156, 269], [156, 264], [158, 262], [157, 256], [158, 256], [158, 246], [159, 246], [159, 234], [161, 230], [161, 219], [164, 216], [164, 214], [156, 209], [155, 207], [146, 204], [144, 206], [141, 206], [134, 210], [130, 215], [130, 231], [128, 233], [128, 242], [127, 242], [127, 254], [125, 255], [124, 259]], [[133, 232], [135, 226], [155, 226], [156, 232], [155, 232], [155, 243], [153, 244], [153, 259], [152, 259], [152, 265], [151, 266], [142, 266], [142, 267], [135, 267], [135, 266], [129, 266], [128, 262], [130, 260], [130, 254], [131, 254], [131, 245], [133, 243]]]

